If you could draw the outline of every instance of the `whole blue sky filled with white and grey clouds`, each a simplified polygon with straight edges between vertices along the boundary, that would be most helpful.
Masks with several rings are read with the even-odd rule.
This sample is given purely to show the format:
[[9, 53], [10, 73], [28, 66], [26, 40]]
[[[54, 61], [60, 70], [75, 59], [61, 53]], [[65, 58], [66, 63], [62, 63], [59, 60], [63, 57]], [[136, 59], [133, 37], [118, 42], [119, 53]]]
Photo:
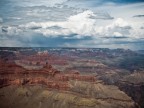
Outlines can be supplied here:
[[0, 0], [0, 47], [144, 49], [144, 0]]

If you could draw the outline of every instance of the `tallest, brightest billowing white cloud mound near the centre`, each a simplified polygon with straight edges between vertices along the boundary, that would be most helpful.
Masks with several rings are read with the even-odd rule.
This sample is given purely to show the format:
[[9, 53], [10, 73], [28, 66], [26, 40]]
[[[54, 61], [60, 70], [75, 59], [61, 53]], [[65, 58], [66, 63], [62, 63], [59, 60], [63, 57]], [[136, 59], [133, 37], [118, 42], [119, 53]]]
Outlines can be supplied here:
[[72, 33], [79, 35], [93, 35], [96, 20], [90, 17], [95, 16], [92, 11], [84, 11], [83, 13], [70, 16], [66, 24], [62, 25], [63, 28], [67, 28]]

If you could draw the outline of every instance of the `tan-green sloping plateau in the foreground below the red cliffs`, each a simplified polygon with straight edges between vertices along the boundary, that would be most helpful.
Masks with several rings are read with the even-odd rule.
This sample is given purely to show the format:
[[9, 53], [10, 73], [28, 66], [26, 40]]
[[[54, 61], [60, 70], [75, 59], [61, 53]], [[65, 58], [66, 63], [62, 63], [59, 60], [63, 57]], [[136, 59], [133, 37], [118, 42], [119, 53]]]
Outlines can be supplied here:
[[[100, 85], [102, 87], [102, 85]], [[97, 87], [97, 85], [95, 85]], [[106, 88], [106, 87], [104, 87]], [[107, 89], [106, 89], [107, 90]], [[115, 90], [113, 90], [115, 91]], [[108, 92], [107, 92], [108, 93]], [[117, 93], [117, 91], [115, 91]], [[119, 94], [119, 93], [118, 93]], [[124, 93], [123, 99], [88, 97], [75, 92], [47, 90], [42, 86], [7, 86], [0, 89], [1, 108], [136, 108]], [[106, 95], [106, 94], [104, 94]]]

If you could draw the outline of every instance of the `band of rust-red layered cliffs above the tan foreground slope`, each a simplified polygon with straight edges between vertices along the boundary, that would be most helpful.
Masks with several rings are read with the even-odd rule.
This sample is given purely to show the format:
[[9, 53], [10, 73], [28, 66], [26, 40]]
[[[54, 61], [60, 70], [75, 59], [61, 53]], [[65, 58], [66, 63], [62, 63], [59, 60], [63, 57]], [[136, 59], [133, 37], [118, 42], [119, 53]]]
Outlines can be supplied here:
[[41, 69], [27, 69], [23, 65], [16, 65], [14, 62], [1, 61], [0, 70], [1, 87], [10, 84], [43, 84], [48, 88], [67, 89], [69, 88], [69, 80], [95, 81], [95, 77], [92, 75], [80, 75], [77, 72], [62, 74], [48, 64]]

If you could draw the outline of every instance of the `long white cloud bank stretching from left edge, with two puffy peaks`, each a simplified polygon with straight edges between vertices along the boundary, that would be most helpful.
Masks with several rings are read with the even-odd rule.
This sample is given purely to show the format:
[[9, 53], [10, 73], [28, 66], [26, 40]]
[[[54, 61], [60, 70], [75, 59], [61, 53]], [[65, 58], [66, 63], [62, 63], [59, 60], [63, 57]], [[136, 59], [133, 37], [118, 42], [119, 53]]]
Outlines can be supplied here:
[[132, 27], [122, 18], [117, 18], [104, 26], [99, 26], [97, 23], [97, 14], [91, 10], [86, 10], [71, 15], [65, 21], [29, 22], [19, 26], [2, 26], [1, 33], [5, 35], [19, 35], [26, 31], [40, 33], [46, 37], [54, 38], [60, 36], [65, 39], [130, 37]]

